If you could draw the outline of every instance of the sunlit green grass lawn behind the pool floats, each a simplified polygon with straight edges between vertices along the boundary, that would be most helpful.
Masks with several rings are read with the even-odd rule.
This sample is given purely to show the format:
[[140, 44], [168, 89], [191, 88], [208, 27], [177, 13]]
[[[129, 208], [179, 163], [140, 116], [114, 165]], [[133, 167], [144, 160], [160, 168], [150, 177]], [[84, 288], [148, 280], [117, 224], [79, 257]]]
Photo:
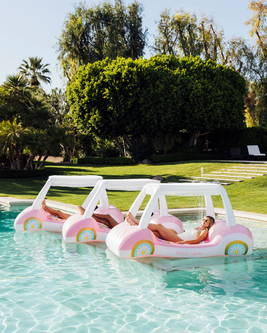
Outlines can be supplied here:
[[[234, 166], [241, 166], [236, 162], [217, 161], [187, 161], [172, 162], [168, 164], [154, 165], [129, 165], [129, 166], [102, 166], [86, 164], [53, 164], [45, 162], [47, 174], [36, 178], [1, 179], [0, 196], [12, 196], [20, 199], [33, 199], [37, 196], [49, 175], [101, 175], [104, 179], [121, 178], [152, 178], [156, 175], [164, 177], [165, 182], [179, 182], [179, 179], [190, 179], [190, 176], [200, 176], [200, 169], [204, 173], [221, 171]], [[231, 178], [229, 176], [229, 178]], [[246, 179], [243, 182], [234, 182], [224, 186], [233, 209], [267, 214], [267, 176], [256, 176], [254, 179]], [[90, 188], [51, 187], [46, 198], [50, 200], [82, 204], [88, 195]], [[137, 197], [139, 191], [108, 191], [109, 203], [114, 204], [120, 210], [128, 210]], [[167, 196], [168, 208], [196, 207], [197, 198]], [[149, 197], [146, 197], [147, 201]], [[147, 201], [141, 209], [145, 208]], [[219, 196], [213, 197], [214, 206], [223, 208]]]

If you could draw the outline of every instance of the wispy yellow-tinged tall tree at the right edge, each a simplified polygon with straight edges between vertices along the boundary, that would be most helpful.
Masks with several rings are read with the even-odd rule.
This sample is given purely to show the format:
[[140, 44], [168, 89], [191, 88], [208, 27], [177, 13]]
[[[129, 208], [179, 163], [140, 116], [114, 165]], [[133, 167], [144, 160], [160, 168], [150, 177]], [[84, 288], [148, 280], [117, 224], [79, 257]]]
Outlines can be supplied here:
[[245, 94], [247, 123], [267, 126], [267, 1], [251, 1], [250, 26], [252, 44], [243, 37], [234, 37], [229, 43], [229, 64], [246, 77]]

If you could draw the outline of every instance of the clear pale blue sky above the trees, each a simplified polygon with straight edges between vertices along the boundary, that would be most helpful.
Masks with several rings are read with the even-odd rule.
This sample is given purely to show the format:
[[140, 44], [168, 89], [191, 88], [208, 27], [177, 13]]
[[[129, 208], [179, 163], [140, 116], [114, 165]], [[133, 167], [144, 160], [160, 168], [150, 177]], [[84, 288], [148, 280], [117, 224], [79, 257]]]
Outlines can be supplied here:
[[[79, 2], [79, 1], [77, 1]], [[92, 1], [98, 3], [98, 1]], [[125, 4], [131, 3], [124, 0]], [[214, 15], [215, 21], [224, 29], [226, 40], [233, 35], [249, 38], [244, 22], [251, 16], [247, 0], [139, 0], [144, 5], [144, 26], [156, 34], [155, 20], [166, 8], [171, 12], [184, 7], [190, 12], [205, 12]], [[50, 64], [52, 84], [44, 85], [46, 91], [61, 87], [62, 80], [57, 71], [57, 55], [53, 45], [60, 36], [66, 14], [73, 10], [73, 0], [0, 0], [0, 84], [7, 75], [16, 72], [22, 59], [43, 57]], [[86, 1], [90, 4], [91, 1]], [[147, 50], [146, 58], [150, 57]]]

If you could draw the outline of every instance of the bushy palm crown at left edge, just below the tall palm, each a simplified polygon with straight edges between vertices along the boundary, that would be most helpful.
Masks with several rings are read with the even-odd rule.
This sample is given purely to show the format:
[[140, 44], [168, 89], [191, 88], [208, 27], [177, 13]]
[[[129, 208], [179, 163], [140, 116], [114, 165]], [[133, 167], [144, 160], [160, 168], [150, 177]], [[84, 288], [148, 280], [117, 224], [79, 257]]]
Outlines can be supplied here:
[[0, 86], [0, 98], [13, 107], [19, 107], [21, 102], [28, 102], [32, 96], [29, 82], [21, 74], [9, 75]]

